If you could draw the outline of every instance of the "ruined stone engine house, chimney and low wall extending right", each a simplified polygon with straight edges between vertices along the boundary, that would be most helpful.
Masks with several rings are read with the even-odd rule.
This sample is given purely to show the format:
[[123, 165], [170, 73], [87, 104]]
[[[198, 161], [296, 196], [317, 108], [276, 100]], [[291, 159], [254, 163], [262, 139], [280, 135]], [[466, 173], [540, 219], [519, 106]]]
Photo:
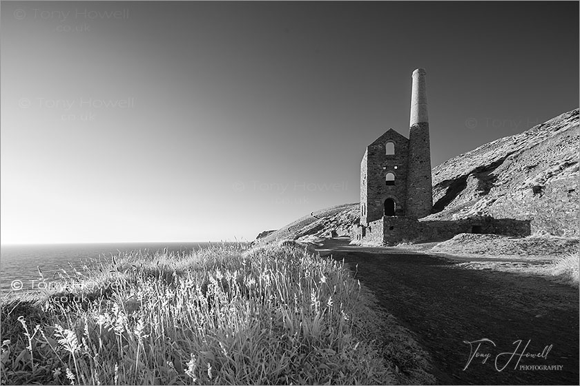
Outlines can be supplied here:
[[389, 129], [367, 146], [360, 163], [360, 223], [352, 230], [354, 238], [394, 245], [459, 233], [530, 234], [529, 221], [489, 216], [418, 221], [433, 209], [425, 75], [423, 68], [412, 74], [409, 138]]

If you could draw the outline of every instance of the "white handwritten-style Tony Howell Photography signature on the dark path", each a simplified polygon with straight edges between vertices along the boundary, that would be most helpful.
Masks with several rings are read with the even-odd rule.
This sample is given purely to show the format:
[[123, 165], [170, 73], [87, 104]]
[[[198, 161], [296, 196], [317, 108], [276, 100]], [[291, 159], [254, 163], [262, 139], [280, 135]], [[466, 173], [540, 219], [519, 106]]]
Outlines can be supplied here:
[[[517, 369], [521, 358], [542, 358], [542, 359], [547, 359], [548, 358], [548, 353], [550, 352], [550, 350], [552, 349], [552, 345], [547, 345], [543, 348], [542, 352], [526, 352], [526, 350], [528, 349], [528, 346], [530, 345], [531, 339], [528, 341], [528, 343], [525, 343], [525, 347], [523, 347], [523, 349], [520, 349], [520, 347], [522, 346], [522, 340], [519, 339], [517, 341], [515, 341], [514, 343], [512, 343], [512, 345], [516, 345], [516, 348], [513, 351], [508, 351], [508, 352], [501, 352], [499, 354], [495, 355], [494, 358], [494, 367], [498, 372], [503, 371], [503, 369], [505, 369], [506, 367], [508, 367], [508, 365], [510, 365], [510, 363], [512, 363], [512, 361], [515, 362], [514, 365], [514, 369]], [[478, 341], [463, 341], [463, 343], [465, 343], [466, 345], [470, 345], [470, 356], [469, 358], [467, 358], [467, 364], [465, 365], [465, 367], [463, 367], [463, 371], [465, 371], [465, 369], [467, 369], [467, 367], [469, 367], [470, 363], [472, 363], [472, 360], [481, 360], [481, 363], [485, 364], [487, 362], [488, 359], [492, 358], [492, 354], [490, 354], [490, 352], [483, 352], [483, 348], [482, 345], [485, 345], [487, 347], [490, 347], [489, 345], [492, 345], [493, 347], [497, 347], [497, 345], [491, 340], [491, 339], [487, 339], [487, 338], [483, 338], [483, 339], [479, 339]], [[484, 346], [484, 347], [485, 347]], [[523, 366], [521, 366], [523, 367]], [[529, 367], [529, 366], [528, 366]], [[554, 369], [561, 369], [562, 366], [553, 366]], [[556, 368], [558, 367], [558, 368]]]

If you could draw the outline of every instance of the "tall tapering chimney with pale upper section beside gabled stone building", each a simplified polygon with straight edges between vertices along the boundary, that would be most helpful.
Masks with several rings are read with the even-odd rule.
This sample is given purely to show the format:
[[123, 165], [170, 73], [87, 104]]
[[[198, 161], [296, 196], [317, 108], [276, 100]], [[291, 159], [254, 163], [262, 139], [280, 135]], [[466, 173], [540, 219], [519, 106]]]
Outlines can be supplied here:
[[412, 74], [411, 119], [409, 121], [407, 216], [418, 219], [431, 214], [433, 207], [426, 74], [423, 68], [414, 70]]

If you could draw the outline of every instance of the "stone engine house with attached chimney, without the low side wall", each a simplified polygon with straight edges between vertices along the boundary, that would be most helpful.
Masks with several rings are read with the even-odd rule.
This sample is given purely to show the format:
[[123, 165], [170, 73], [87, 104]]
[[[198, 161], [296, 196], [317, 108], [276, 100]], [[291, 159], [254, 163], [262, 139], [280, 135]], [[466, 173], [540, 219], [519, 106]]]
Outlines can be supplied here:
[[423, 68], [412, 74], [409, 139], [389, 129], [367, 146], [360, 163], [359, 239], [372, 232], [372, 238], [383, 238], [385, 243], [399, 240], [406, 223], [431, 214], [433, 191], [425, 75]]

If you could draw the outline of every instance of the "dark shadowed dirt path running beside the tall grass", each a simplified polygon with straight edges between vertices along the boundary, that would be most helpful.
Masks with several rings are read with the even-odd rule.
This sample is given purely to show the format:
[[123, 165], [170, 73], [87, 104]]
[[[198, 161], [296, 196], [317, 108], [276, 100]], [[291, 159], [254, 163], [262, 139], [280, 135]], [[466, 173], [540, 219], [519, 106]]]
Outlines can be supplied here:
[[[577, 289], [540, 277], [466, 270], [456, 266], [459, 261], [443, 257], [355, 247], [345, 241], [327, 241], [316, 250], [344, 258], [385, 310], [416, 334], [432, 356], [438, 383], [578, 385]], [[485, 341], [477, 350], [487, 360], [483, 363], [485, 356], [478, 355], [467, 365], [472, 353], [465, 342], [482, 338], [493, 342]], [[516, 351], [518, 340], [522, 343]], [[477, 343], [472, 346], [475, 350]], [[545, 358], [525, 356], [542, 352]]]

